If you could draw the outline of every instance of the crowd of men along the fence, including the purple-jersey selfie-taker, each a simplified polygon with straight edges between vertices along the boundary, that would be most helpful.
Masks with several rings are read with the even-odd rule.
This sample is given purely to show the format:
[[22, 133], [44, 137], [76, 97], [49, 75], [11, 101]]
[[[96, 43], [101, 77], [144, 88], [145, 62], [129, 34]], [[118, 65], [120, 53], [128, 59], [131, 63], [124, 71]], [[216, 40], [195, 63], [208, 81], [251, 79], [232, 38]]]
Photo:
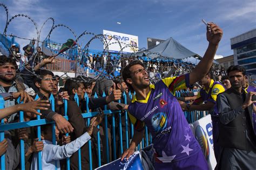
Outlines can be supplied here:
[[[90, 77], [78, 76], [66, 79], [63, 88], [58, 87], [60, 78], [43, 68], [48, 63], [58, 62], [55, 56], [45, 55], [36, 62], [32, 61], [32, 46], [35, 41], [23, 48], [28, 59], [24, 69], [18, 74], [16, 56], [15, 59], [12, 56], [1, 56], [0, 95], [5, 102], [4, 109], [0, 110], [0, 118], [6, 124], [11, 124], [19, 121], [19, 111], [24, 111], [25, 122], [40, 115], [41, 118], [56, 123], [57, 144], [52, 144], [54, 131], [51, 124], [41, 126], [42, 140], [38, 139], [36, 127], [5, 131], [5, 139], [0, 143], [0, 155], [5, 154], [5, 168], [19, 168], [21, 151], [18, 139], [25, 142], [26, 169], [38, 169], [39, 151], [42, 151], [42, 169], [55, 169], [56, 166], [57, 169], [66, 169], [66, 158], [70, 158], [71, 169], [78, 169], [78, 149], [81, 151], [82, 169], [89, 169], [87, 141], [91, 139], [93, 168], [96, 168], [98, 132], [102, 165], [108, 162], [106, 147], [109, 148], [110, 161], [118, 157], [124, 160], [134, 153], [144, 138], [146, 125], [152, 135], [152, 164], [155, 169], [208, 169], [202, 148], [184, 116], [184, 111], [207, 110], [212, 117], [214, 153], [218, 162], [216, 168], [255, 169], [255, 87], [249, 86], [245, 69], [241, 66], [231, 66], [227, 72], [211, 68], [222, 34], [219, 26], [208, 23], [209, 45], [197, 66], [180, 68], [181, 63], [166, 65], [164, 62], [148, 62], [145, 65], [140, 60], [131, 59], [128, 63], [123, 63], [122, 77], [116, 77], [113, 81], [95, 81]], [[41, 52], [40, 49], [37, 52]], [[96, 60], [92, 67], [102, 67], [102, 61]], [[154, 79], [157, 72], [163, 74]], [[200, 91], [192, 91], [195, 88]], [[180, 89], [190, 89], [191, 92], [181, 97], [175, 96], [175, 92]], [[132, 91], [132, 98], [129, 91]], [[88, 100], [85, 100], [85, 93]], [[97, 98], [94, 97], [95, 93]], [[49, 102], [51, 94], [55, 100], [54, 111]], [[78, 101], [75, 100], [76, 94]], [[39, 100], [35, 100], [36, 95]], [[23, 104], [17, 103], [18, 97]], [[68, 121], [63, 117], [64, 100], [68, 101]], [[107, 120], [103, 121], [102, 110], [105, 105], [107, 109], [121, 111], [123, 139], [119, 136], [120, 133], [114, 138], [111, 133], [115, 127], [113, 124], [117, 124], [118, 119], [113, 120], [107, 116]], [[129, 111], [134, 133], [131, 136], [128, 126], [128, 136], [131, 139], [129, 148], [122, 153], [117, 145], [117, 151], [114, 152], [113, 143], [119, 144], [121, 139], [125, 148], [125, 110]], [[89, 124], [82, 116], [82, 113], [88, 111], [99, 111], [98, 116], [92, 117]]]

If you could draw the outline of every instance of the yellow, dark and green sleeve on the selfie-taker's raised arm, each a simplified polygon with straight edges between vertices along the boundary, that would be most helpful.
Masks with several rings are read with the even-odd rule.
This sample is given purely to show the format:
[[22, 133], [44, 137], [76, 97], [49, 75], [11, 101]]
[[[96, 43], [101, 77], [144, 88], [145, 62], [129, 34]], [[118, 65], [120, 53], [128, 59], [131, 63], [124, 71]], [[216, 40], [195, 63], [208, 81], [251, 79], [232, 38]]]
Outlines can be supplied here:
[[178, 77], [167, 77], [162, 81], [169, 88], [171, 93], [175, 95], [175, 91], [190, 87], [190, 74], [187, 73]]

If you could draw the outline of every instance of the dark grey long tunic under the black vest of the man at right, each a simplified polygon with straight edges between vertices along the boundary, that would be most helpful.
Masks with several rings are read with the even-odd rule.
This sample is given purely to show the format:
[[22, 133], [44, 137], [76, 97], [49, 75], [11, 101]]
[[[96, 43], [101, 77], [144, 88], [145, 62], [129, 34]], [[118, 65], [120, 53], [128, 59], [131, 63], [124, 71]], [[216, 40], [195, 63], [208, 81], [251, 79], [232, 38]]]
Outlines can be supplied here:
[[[234, 90], [234, 93], [237, 93]], [[243, 101], [245, 100], [245, 93], [246, 91], [242, 91], [240, 96], [243, 98]], [[239, 94], [238, 94], [239, 95]], [[218, 101], [218, 112], [220, 114], [220, 122], [223, 124], [230, 123], [235, 118], [237, 118], [238, 115], [240, 115], [242, 112], [247, 111], [246, 109], [242, 109], [241, 105], [238, 105], [237, 108], [231, 109], [230, 104], [228, 103], [228, 100], [225, 95], [220, 94], [217, 98]], [[245, 116], [248, 114], [245, 114]], [[247, 123], [250, 118], [246, 118]], [[231, 127], [235, 128], [235, 127]], [[255, 159], [256, 159], [256, 146], [251, 138], [252, 136], [249, 134], [249, 130], [246, 128], [246, 146], [247, 151], [240, 150], [238, 148], [229, 148], [229, 147], [223, 147], [221, 152], [221, 161], [220, 164], [218, 164], [218, 169], [231, 169], [233, 167], [237, 167], [238, 169], [255, 169]], [[254, 162], [254, 163], [253, 163]]]

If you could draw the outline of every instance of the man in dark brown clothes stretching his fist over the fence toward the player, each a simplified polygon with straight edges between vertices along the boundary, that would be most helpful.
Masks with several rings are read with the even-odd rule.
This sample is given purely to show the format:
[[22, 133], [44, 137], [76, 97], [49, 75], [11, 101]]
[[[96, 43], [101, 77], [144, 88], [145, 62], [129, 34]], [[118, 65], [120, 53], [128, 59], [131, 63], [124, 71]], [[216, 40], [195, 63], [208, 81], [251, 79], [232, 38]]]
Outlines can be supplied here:
[[[81, 76], [79, 76], [82, 78]], [[73, 133], [71, 133], [71, 140], [74, 140], [78, 137], [80, 137], [84, 132], [85, 132], [85, 121], [82, 116], [82, 110], [85, 110], [85, 100], [84, 100], [84, 95], [85, 95], [85, 87], [84, 87], [84, 82], [83, 79], [78, 79], [78, 78], [72, 78], [68, 79], [65, 82], [64, 86], [65, 91], [68, 91], [68, 94], [70, 96], [70, 101], [68, 101], [68, 116], [69, 116], [69, 122], [72, 124], [74, 127]], [[77, 102], [75, 101], [75, 94], [78, 95], [79, 97], [79, 106]], [[121, 93], [119, 90], [113, 89], [111, 95], [106, 96], [106, 97], [98, 97], [98, 98], [89, 98], [89, 108], [90, 109], [95, 109], [98, 107], [103, 107], [104, 105], [110, 103], [111, 101], [114, 100], [119, 100], [121, 97]], [[82, 109], [81, 109], [82, 108]], [[95, 133], [94, 133], [95, 134]], [[81, 148], [81, 153], [82, 153], [82, 169], [87, 169], [89, 168], [89, 151], [87, 145], [84, 145]], [[95, 150], [96, 151], [96, 150]], [[70, 168], [71, 169], [77, 169], [77, 159], [78, 159], [78, 153], [75, 153], [72, 155], [70, 158]], [[93, 154], [93, 167], [97, 167], [97, 157], [96, 154]]]

